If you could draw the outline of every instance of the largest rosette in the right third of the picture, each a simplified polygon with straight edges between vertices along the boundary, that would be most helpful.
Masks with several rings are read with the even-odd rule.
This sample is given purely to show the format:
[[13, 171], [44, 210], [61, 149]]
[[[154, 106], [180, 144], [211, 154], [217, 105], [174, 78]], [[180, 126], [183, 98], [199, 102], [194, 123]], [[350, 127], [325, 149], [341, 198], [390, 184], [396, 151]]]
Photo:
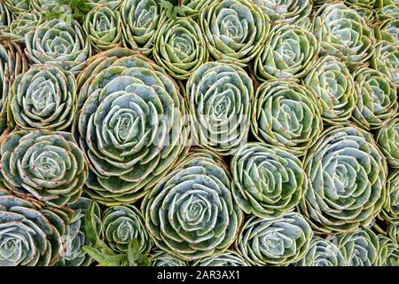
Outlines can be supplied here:
[[326, 129], [304, 160], [309, 187], [301, 212], [315, 233], [367, 226], [386, 199], [387, 162], [372, 134], [355, 126]]

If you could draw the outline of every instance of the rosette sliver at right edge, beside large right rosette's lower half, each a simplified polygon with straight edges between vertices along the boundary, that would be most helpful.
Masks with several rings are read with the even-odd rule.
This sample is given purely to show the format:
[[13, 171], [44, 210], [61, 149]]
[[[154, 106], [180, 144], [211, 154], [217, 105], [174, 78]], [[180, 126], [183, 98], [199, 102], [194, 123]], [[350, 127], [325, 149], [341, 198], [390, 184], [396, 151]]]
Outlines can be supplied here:
[[382, 216], [391, 222], [399, 220], [399, 170], [392, 170], [387, 178], [387, 199]]

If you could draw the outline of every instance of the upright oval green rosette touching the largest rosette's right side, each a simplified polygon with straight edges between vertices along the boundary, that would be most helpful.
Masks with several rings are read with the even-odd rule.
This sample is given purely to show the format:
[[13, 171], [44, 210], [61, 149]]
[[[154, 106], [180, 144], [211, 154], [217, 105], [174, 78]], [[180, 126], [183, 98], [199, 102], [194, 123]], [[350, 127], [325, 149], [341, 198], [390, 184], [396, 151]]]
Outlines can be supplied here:
[[200, 66], [186, 84], [192, 135], [199, 146], [232, 154], [246, 142], [254, 86], [241, 67], [222, 62]]

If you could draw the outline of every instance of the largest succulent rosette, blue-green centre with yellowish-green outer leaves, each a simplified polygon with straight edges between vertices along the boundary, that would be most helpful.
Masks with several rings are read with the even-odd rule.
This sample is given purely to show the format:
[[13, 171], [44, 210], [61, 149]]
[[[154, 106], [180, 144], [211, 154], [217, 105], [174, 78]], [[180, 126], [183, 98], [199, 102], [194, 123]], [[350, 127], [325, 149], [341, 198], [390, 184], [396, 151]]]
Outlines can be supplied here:
[[184, 99], [150, 59], [124, 48], [92, 57], [78, 78], [74, 138], [89, 162], [86, 193], [100, 203], [137, 201], [190, 146]]

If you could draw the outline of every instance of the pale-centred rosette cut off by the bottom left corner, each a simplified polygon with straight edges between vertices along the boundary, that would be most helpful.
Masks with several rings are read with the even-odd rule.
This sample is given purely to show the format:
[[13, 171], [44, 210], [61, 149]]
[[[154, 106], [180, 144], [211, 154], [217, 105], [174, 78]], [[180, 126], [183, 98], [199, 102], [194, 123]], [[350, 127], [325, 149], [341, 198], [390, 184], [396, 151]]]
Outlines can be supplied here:
[[48, 266], [63, 249], [73, 211], [43, 206], [0, 189], [0, 266]]

